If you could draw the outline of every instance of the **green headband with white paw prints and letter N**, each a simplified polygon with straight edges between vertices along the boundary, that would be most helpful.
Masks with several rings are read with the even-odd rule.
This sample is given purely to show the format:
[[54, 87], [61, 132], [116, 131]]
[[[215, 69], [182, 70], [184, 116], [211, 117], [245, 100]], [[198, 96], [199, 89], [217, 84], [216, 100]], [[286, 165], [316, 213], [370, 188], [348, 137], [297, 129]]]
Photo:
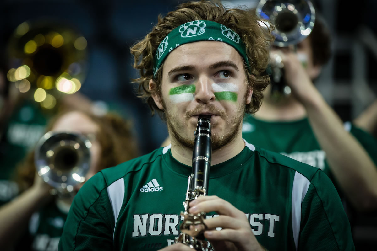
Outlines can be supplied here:
[[156, 72], [162, 62], [164, 62], [172, 50], [182, 44], [198, 41], [221, 41], [229, 44], [238, 51], [242, 58], [244, 58], [246, 65], [250, 70], [245, 44], [241, 41], [241, 38], [237, 33], [216, 22], [196, 20], [176, 27], [164, 38], [164, 40], [162, 40], [156, 50], [153, 75], [156, 76]]

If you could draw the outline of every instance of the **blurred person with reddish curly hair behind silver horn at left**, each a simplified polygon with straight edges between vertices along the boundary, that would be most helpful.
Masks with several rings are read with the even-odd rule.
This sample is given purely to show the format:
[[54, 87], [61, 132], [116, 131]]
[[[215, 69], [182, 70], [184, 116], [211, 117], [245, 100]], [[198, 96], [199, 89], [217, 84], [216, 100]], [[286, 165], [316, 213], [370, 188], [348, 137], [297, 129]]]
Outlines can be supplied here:
[[[86, 180], [99, 170], [137, 156], [132, 126], [116, 114], [97, 116], [68, 109], [52, 117], [46, 130], [82, 134], [90, 139], [90, 167]], [[77, 184], [69, 196], [60, 193], [52, 196], [53, 187], [36, 175], [35, 151], [33, 148], [15, 170], [20, 195], [0, 207], [2, 250], [58, 250], [70, 204], [83, 185]]]

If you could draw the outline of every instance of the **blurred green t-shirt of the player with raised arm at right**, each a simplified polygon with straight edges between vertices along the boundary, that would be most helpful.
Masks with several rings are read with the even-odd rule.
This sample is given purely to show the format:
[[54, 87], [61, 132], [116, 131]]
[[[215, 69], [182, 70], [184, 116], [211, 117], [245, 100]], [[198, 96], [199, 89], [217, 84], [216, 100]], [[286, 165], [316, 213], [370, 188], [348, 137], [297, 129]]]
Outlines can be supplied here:
[[[344, 127], [354, 135], [377, 164], [377, 140], [349, 122], [345, 123]], [[319, 146], [307, 118], [293, 122], [267, 122], [248, 115], [242, 125], [242, 138], [261, 148], [318, 167], [334, 181], [326, 161], [326, 153]]]

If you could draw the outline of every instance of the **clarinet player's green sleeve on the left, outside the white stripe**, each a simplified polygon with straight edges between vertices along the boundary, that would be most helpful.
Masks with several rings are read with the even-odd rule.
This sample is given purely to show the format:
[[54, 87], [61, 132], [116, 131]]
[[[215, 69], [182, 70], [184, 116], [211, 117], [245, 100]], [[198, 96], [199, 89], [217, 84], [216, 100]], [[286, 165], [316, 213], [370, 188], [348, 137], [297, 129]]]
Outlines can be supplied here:
[[102, 173], [79, 190], [59, 242], [60, 251], [112, 250], [115, 220]]

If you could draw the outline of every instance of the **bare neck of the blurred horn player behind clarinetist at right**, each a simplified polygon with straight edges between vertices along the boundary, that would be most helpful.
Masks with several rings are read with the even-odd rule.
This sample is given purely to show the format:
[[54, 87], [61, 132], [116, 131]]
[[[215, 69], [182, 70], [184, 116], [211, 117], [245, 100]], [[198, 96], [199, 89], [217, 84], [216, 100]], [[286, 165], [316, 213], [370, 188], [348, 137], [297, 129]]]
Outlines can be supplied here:
[[264, 91], [261, 108], [255, 117], [267, 121], [294, 121], [306, 116], [305, 107], [293, 96], [287, 95], [276, 101], [271, 97], [271, 89]]

